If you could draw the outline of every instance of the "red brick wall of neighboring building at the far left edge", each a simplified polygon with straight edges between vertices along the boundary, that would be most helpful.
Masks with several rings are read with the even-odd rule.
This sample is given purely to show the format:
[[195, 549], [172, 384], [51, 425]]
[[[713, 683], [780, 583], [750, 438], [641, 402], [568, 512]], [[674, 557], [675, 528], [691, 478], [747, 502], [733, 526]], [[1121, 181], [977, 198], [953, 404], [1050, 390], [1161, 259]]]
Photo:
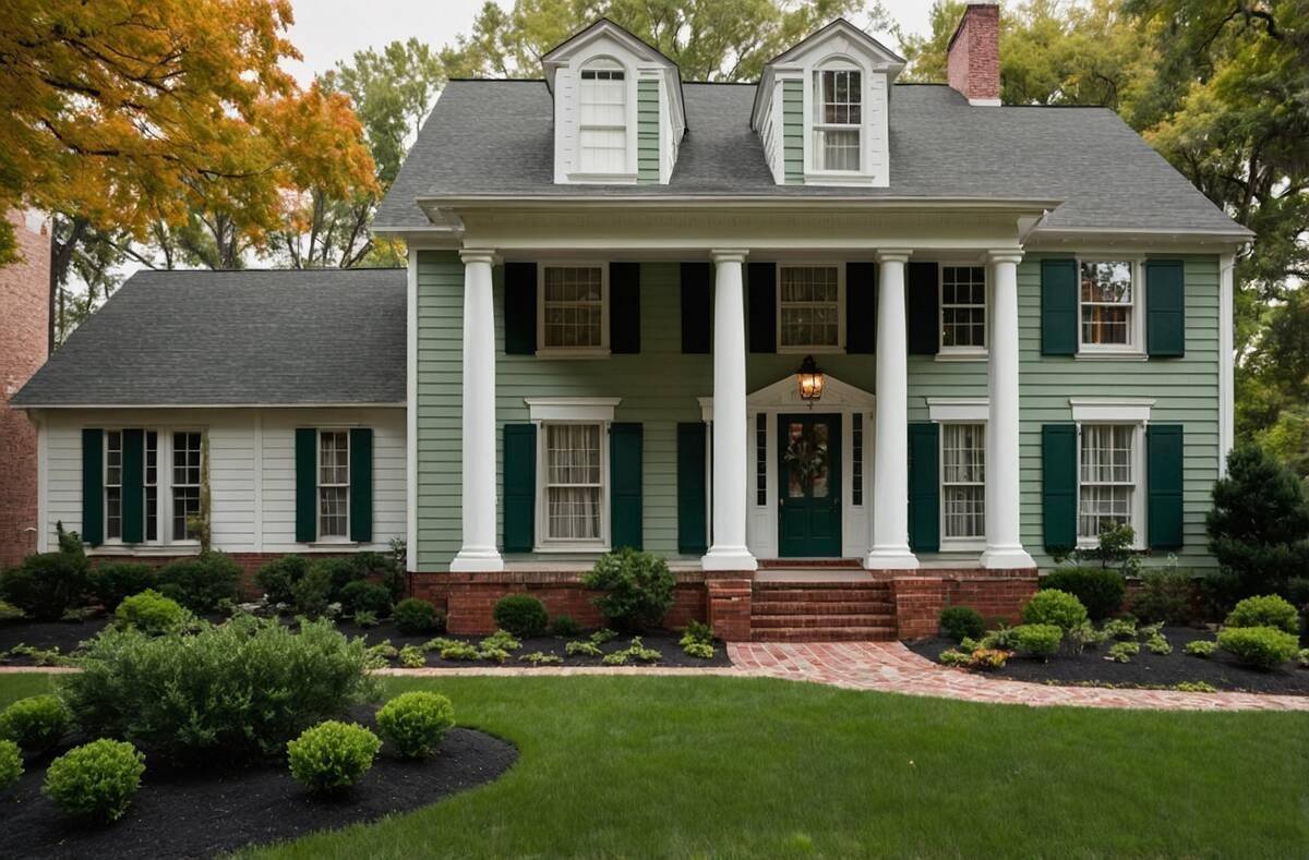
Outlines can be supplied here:
[[37, 549], [37, 430], [9, 399], [45, 363], [50, 336], [50, 237], [7, 217], [21, 259], [0, 268], [0, 569]]

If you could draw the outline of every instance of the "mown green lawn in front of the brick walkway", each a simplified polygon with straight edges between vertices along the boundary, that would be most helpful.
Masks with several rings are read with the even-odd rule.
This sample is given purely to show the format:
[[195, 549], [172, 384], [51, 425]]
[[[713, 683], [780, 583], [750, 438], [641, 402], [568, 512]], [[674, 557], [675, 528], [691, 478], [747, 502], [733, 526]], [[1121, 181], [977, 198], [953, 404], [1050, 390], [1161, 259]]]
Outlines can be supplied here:
[[[0, 676], [0, 704], [46, 689]], [[393, 680], [500, 780], [258, 856], [1304, 856], [1309, 718], [982, 706], [733, 678]]]

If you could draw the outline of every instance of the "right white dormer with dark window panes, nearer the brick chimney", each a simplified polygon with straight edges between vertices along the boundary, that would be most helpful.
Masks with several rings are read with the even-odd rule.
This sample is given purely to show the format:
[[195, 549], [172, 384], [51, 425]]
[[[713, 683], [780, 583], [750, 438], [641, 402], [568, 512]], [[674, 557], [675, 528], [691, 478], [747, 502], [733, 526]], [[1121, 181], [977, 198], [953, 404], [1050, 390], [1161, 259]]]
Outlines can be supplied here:
[[751, 127], [780, 184], [890, 184], [888, 107], [905, 59], [836, 18], [763, 67]]

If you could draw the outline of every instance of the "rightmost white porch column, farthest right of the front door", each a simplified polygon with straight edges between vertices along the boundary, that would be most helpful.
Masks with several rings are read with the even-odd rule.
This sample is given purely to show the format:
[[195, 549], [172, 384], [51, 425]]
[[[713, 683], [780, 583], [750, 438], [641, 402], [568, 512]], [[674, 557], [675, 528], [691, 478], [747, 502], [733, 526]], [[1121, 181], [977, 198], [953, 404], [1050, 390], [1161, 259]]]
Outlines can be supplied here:
[[986, 552], [988, 569], [1035, 567], [1018, 536], [1018, 261], [992, 251], [987, 342]]

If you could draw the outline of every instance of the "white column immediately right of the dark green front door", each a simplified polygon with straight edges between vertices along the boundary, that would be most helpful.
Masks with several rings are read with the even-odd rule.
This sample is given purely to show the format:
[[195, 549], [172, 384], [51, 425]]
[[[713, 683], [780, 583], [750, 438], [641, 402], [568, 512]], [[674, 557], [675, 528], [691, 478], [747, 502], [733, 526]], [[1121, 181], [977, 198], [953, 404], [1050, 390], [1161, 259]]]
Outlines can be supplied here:
[[[873, 429], [873, 544], [869, 570], [914, 570], [908, 549], [908, 337], [905, 263], [910, 251], [877, 255], [877, 425]], [[851, 320], [853, 322], [853, 320]]]

